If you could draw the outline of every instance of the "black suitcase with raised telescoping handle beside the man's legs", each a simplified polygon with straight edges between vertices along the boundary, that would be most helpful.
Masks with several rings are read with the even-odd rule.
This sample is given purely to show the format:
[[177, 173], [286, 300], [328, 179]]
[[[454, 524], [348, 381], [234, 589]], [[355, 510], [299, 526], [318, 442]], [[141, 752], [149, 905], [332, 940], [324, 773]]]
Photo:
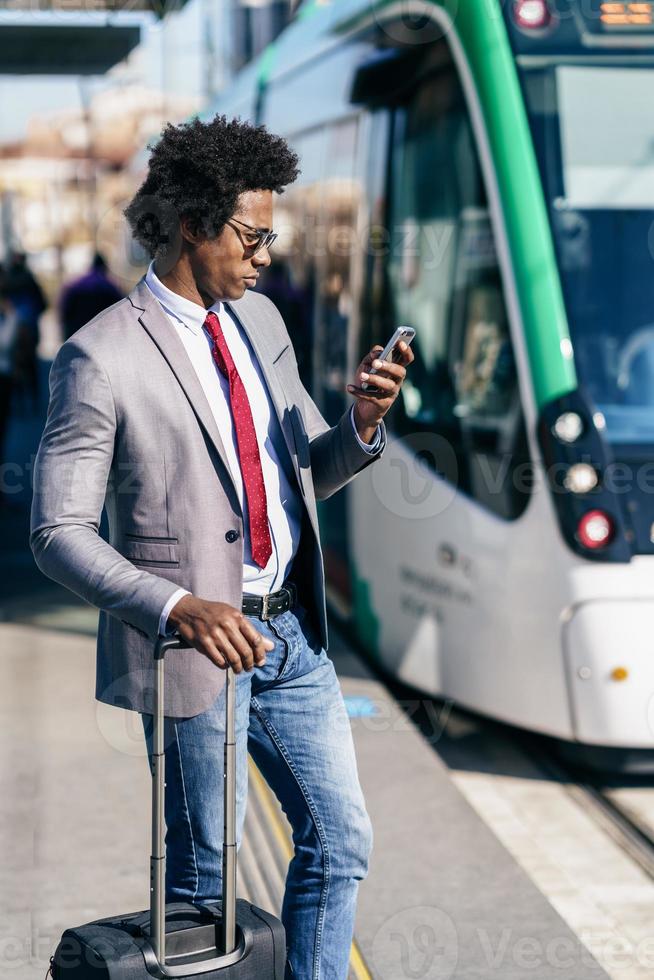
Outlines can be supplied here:
[[166, 650], [155, 646], [155, 715], [152, 772], [150, 909], [66, 929], [50, 972], [54, 980], [284, 980], [286, 936], [279, 919], [236, 900], [236, 744], [234, 675], [226, 671], [225, 833], [222, 902], [165, 902], [163, 684]]

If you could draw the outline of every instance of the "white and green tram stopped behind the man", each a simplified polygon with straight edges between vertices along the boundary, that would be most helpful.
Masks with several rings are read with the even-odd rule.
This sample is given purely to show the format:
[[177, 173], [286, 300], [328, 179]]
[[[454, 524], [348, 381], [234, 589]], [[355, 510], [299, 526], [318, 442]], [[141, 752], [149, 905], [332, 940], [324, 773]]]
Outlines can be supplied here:
[[652, 106], [651, 2], [333, 0], [206, 113], [300, 156], [260, 288], [328, 421], [416, 329], [383, 458], [319, 505], [332, 602], [387, 674], [625, 768], [654, 759]]

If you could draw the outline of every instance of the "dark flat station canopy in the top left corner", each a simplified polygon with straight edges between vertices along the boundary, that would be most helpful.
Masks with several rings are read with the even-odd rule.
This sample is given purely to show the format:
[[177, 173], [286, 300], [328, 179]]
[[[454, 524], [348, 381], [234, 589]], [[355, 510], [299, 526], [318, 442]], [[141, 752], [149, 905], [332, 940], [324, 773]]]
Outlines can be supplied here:
[[0, 0], [0, 72], [103, 75], [180, 0]]

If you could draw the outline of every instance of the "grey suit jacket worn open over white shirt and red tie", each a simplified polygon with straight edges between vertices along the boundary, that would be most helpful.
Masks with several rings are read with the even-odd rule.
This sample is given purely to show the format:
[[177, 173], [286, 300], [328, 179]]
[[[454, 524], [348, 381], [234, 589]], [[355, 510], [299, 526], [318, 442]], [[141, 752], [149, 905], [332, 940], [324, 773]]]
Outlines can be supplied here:
[[[300, 380], [275, 305], [253, 291], [226, 305], [253, 346], [288, 446], [285, 464], [305, 505], [292, 577], [327, 649], [316, 500], [381, 456], [385, 427], [375, 455], [357, 442], [349, 411], [330, 427]], [[103, 504], [108, 542], [98, 533]], [[41, 571], [101, 610], [95, 696], [108, 704], [152, 711], [159, 616], [180, 586], [240, 609], [236, 488], [202, 386], [145, 279], [73, 334], [54, 360], [30, 543]], [[165, 713], [199, 714], [224, 680], [197, 650], [170, 654]]]

